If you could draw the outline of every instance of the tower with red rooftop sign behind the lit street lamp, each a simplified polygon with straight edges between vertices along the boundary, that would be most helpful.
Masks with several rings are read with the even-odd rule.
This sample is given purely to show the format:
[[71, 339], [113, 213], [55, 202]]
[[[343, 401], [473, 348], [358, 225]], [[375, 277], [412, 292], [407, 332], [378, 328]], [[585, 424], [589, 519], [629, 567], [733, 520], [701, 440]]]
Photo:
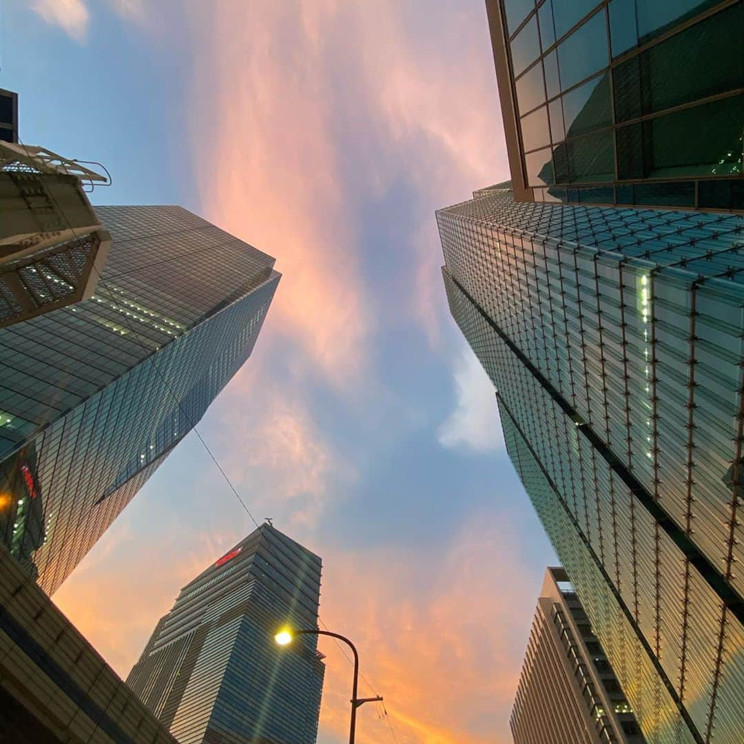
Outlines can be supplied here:
[[325, 665], [321, 559], [261, 525], [187, 584], [127, 684], [181, 744], [315, 744]]

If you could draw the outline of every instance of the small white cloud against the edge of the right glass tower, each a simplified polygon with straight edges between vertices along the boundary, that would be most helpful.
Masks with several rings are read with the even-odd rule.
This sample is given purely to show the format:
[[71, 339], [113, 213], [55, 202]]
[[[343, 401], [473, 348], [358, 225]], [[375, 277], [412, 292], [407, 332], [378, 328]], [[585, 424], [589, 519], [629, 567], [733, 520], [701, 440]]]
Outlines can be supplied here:
[[467, 447], [494, 452], [504, 446], [493, 382], [481, 363], [465, 348], [455, 363], [454, 411], [439, 427], [439, 443], [448, 449]]

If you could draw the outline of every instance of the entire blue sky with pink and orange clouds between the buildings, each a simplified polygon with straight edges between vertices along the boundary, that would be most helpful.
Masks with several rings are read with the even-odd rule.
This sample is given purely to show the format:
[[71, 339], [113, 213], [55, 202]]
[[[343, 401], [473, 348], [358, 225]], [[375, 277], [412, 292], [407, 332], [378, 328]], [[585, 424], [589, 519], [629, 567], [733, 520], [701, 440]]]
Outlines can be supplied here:
[[[324, 561], [360, 744], [510, 741], [551, 546], [449, 316], [434, 211], [508, 178], [482, 0], [5, 0], [20, 132], [275, 256], [250, 359], [199, 423], [253, 516]], [[254, 525], [194, 434], [54, 600], [126, 677], [181, 586]], [[347, 737], [327, 654], [319, 744]], [[374, 690], [374, 692], [371, 692]]]

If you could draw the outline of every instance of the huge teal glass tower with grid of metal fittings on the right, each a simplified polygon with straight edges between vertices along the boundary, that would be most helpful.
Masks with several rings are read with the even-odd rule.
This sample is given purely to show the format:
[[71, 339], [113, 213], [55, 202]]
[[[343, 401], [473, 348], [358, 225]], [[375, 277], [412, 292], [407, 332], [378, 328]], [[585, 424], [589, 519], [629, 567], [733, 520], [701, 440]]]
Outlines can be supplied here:
[[744, 218], [437, 213], [507, 451], [650, 743], [744, 735]]

